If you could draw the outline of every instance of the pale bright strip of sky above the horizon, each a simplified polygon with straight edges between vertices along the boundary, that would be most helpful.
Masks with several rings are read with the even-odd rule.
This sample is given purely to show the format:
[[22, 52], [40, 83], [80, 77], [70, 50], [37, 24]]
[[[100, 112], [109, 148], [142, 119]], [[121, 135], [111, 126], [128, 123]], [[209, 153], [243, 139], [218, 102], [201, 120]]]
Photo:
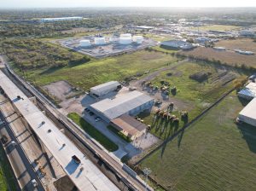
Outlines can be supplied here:
[[0, 9], [82, 7], [256, 7], [256, 0], [0, 0]]

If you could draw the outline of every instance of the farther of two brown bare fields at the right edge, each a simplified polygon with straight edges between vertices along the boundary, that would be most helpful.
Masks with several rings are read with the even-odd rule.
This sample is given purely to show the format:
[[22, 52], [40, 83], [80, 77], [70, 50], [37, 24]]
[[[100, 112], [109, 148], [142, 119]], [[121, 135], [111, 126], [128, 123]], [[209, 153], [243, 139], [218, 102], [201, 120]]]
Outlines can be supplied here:
[[239, 38], [236, 40], [222, 40], [218, 43], [215, 43], [216, 46], [222, 46], [226, 49], [242, 49], [247, 51], [253, 51], [256, 53], [256, 43], [253, 42], [253, 39], [249, 38]]

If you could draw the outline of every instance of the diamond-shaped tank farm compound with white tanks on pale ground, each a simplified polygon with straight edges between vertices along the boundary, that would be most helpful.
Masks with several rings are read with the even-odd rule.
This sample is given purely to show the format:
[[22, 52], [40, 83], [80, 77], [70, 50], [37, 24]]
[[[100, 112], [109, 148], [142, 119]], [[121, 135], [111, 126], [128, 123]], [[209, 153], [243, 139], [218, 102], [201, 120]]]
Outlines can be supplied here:
[[131, 33], [115, 34], [111, 37], [100, 35], [83, 38], [67, 38], [58, 40], [58, 43], [68, 49], [73, 49], [96, 58], [119, 55], [138, 49], [145, 49], [157, 44], [153, 39], [143, 38], [140, 35], [132, 36]]

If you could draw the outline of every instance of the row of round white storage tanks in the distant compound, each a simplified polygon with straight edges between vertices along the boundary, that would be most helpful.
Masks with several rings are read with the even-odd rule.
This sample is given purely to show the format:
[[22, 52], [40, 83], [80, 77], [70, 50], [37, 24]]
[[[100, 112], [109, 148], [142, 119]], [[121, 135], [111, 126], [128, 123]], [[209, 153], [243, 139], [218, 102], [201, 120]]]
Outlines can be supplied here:
[[[131, 36], [130, 33], [121, 34], [119, 37], [119, 43], [120, 44], [130, 44], [132, 42], [135, 43], [143, 43], [143, 37], [142, 36]], [[95, 45], [103, 45], [106, 44], [106, 38], [94, 38], [94, 44]], [[79, 42], [79, 46], [81, 47], [87, 47], [90, 46], [90, 40], [81, 40]]]

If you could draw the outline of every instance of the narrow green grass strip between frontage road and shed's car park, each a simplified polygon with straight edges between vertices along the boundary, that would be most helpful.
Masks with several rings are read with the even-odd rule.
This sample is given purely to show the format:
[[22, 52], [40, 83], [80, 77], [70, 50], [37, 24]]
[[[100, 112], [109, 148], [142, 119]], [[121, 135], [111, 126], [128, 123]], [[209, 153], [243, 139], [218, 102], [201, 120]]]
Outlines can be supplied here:
[[68, 118], [72, 119], [73, 122], [78, 124], [86, 133], [88, 133], [92, 138], [97, 142], [100, 142], [104, 148], [108, 151], [116, 151], [119, 147], [112, 141], [108, 139], [107, 136], [104, 136], [99, 130], [96, 130], [95, 127], [87, 123], [83, 118], [79, 116], [78, 113], [68, 113]]

